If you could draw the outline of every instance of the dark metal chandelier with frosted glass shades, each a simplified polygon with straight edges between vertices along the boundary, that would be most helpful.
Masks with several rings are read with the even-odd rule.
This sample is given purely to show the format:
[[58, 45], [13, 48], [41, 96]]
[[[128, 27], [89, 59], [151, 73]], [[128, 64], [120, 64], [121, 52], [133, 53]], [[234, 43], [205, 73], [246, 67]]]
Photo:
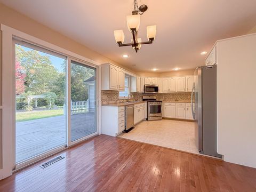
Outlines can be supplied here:
[[115, 30], [114, 36], [116, 39], [116, 42], [119, 47], [121, 46], [132, 46], [135, 52], [138, 52], [140, 50], [141, 45], [143, 44], [151, 44], [153, 43], [155, 37], [156, 37], [156, 26], [147, 26], [147, 42], [141, 42], [141, 38], [138, 38], [138, 30], [140, 27], [140, 15], [142, 15], [145, 11], [147, 11], [148, 6], [147, 5], [141, 5], [139, 7], [137, 0], [134, 0], [134, 11], [132, 11], [132, 15], [126, 16], [127, 21], [127, 27], [132, 33], [132, 43], [124, 43], [124, 31], [123, 30]]

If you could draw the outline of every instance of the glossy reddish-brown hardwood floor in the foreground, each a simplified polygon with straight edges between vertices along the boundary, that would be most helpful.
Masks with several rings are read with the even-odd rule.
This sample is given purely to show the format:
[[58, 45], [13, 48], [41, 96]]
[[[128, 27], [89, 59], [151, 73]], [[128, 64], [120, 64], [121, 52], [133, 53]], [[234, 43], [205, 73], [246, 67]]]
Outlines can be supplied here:
[[107, 135], [61, 154], [0, 181], [0, 191], [256, 191], [256, 169]]

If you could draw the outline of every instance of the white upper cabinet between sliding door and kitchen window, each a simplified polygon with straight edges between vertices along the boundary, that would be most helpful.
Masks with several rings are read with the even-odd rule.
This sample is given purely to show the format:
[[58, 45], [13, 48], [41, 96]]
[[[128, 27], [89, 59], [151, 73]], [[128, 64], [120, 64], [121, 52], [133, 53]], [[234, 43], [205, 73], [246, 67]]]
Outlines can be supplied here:
[[124, 90], [125, 71], [109, 63], [101, 66], [101, 89], [102, 90]]

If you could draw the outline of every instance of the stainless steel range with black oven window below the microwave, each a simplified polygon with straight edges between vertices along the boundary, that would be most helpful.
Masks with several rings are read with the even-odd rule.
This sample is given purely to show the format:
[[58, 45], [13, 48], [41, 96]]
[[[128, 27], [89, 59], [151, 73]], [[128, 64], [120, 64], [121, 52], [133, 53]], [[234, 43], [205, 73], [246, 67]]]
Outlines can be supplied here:
[[148, 121], [162, 120], [162, 101], [157, 101], [156, 96], [142, 96], [148, 104]]

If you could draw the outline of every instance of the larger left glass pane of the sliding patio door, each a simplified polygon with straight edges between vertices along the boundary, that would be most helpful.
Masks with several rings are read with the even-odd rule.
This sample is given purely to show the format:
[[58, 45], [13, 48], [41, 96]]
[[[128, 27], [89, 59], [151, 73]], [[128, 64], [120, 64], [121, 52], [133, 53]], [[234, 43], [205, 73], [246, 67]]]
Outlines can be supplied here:
[[15, 162], [66, 145], [66, 57], [15, 44]]

